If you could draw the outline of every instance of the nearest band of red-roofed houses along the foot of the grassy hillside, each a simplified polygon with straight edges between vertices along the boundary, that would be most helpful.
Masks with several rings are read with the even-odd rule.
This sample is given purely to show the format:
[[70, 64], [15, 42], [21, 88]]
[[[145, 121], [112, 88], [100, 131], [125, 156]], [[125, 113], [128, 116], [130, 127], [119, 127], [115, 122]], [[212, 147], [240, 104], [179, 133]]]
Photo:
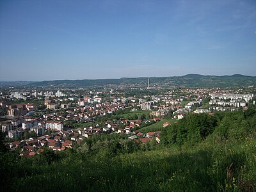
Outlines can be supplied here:
[[[159, 118], [152, 119], [154, 122], [159, 122], [159, 120]], [[140, 127], [141, 120], [122, 120], [121, 123], [125, 125], [125, 129], [118, 129], [116, 124], [109, 121], [106, 122], [106, 126], [103, 129], [99, 128], [97, 125], [94, 127], [84, 127], [83, 130], [70, 129], [69, 131], [58, 131], [55, 129], [52, 134], [29, 138], [27, 140], [12, 141], [9, 143], [9, 147], [11, 151], [17, 150], [18, 148], [21, 156], [30, 157], [44, 152], [45, 147], [51, 148], [54, 152], [74, 148], [75, 145], [81, 145], [83, 140], [86, 140], [86, 138], [95, 134], [102, 134], [104, 132], [109, 134], [127, 134], [127, 139], [134, 140], [136, 143], [146, 143], [153, 139], [156, 140], [157, 143], [160, 142], [161, 131], [143, 133], [137, 129], [132, 130], [134, 127]], [[166, 122], [163, 124], [163, 127], [167, 127], [170, 124], [170, 122]]]

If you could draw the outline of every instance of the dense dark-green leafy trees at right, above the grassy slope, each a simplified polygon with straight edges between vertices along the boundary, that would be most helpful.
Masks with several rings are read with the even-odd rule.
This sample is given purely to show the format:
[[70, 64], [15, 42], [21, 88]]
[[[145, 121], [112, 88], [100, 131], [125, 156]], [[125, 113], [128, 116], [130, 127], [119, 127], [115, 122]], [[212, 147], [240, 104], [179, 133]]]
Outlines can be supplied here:
[[217, 112], [189, 114], [177, 124], [170, 125], [161, 132], [163, 145], [195, 145], [212, 134], [212, 140], [243, 140], [248, 134], [256, 131], [256, 111]]

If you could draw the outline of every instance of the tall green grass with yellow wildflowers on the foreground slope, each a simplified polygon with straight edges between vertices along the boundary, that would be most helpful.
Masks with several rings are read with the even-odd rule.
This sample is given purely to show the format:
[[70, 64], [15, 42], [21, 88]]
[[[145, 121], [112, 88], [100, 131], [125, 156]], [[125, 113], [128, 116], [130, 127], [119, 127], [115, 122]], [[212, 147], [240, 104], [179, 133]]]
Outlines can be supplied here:
[[12, 191], [255, 191], [255, 135], [239, 143], [194, 148], [74, 155], [58, 163], [19, 166]]

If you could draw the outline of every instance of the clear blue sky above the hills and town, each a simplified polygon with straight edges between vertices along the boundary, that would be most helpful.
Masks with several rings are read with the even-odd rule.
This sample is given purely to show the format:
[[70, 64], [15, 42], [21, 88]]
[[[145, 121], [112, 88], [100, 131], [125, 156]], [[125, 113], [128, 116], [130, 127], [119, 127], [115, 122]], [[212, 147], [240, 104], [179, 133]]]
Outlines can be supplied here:
[[0, 81], [256, 76], [256, 1], [0, 1]]

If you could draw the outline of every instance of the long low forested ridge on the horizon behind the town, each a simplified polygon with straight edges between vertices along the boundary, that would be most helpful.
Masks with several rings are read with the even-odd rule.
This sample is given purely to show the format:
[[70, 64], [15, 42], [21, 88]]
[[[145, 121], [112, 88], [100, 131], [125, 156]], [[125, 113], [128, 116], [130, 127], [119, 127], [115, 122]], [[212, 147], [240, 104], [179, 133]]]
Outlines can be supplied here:
[[[140, 84], [147, 86], [148, 77], [131, 77], [120, 79], [83, 79], [83, 80], [54, 80], [30, 83], [31, 86], [100, 86], [106, 84]], [[175, 87], [240, 87], [256, 84], [255, 76], [202, 76], [188, 74], [174, 77], [150, 77], [150, 84], [161, 84]]]

